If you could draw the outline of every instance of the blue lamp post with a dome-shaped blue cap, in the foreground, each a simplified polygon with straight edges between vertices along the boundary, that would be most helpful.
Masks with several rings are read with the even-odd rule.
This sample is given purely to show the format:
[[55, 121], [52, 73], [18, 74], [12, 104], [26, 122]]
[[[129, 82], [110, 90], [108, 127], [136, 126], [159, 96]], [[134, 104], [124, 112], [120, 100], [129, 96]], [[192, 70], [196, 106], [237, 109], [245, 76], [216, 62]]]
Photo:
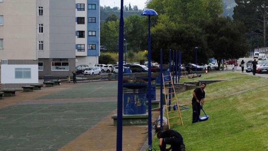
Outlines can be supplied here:
[[158, 15], [153, 9], [146, 9], [141, 16], [148, 16], [148, 146], [149, 151], [152, 150], [152, 105], [151, 105], [151, 33], [150, 21], [151, 16]]

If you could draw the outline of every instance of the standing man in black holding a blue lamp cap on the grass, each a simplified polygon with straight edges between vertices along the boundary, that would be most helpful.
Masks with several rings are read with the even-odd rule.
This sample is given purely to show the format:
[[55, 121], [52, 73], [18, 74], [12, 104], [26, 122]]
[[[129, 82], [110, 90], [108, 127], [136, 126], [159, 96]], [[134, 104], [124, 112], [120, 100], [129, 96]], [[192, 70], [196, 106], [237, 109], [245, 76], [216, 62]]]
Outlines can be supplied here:
[[[201, 88], [196, 88], [193, 92], [193, 98], [192, 98], [192, 123], [196, 123], [199, 120], [200, 116], [200, 110], [201, 107], [204, 105], [205, 101], [205, 91], [204, 89], [206, 88], [206, 84], [202, 83]], [[200, 106], [201, 102], [201, 106]]]

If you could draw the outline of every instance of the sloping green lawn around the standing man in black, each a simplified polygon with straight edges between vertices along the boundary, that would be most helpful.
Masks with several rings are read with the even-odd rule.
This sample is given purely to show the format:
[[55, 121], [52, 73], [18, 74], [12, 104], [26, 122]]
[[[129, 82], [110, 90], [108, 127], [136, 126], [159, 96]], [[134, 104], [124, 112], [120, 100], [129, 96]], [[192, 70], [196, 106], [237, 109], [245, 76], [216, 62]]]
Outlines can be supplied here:
[[[180, 132], [188, 151], [267, 151], [268, 79], [234, 72], [203, 74], [199, 79], [230, 79], [208, 84], [204, 110], [209, 120], [192, 124], [192, 91], [177, 94], [184, 126], [173, 125]], [[201, 113], [203, 115], [203, 113]], [[158, 139], [153, 138], [158, 148]]]

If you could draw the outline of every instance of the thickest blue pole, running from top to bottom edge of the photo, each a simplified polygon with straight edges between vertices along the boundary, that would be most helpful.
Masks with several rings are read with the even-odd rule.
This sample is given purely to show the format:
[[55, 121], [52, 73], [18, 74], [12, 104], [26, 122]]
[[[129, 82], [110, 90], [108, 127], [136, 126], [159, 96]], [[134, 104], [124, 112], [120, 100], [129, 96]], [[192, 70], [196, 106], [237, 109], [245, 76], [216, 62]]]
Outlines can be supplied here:
[[119, 52], [118, 52], [118, 92], [117, 92], [117, 131], [116, 151], [122, 151], [122, 129], [123, 129], [123, 53], [124, 53], [124, 0], [121, 0], [119, 21]]

